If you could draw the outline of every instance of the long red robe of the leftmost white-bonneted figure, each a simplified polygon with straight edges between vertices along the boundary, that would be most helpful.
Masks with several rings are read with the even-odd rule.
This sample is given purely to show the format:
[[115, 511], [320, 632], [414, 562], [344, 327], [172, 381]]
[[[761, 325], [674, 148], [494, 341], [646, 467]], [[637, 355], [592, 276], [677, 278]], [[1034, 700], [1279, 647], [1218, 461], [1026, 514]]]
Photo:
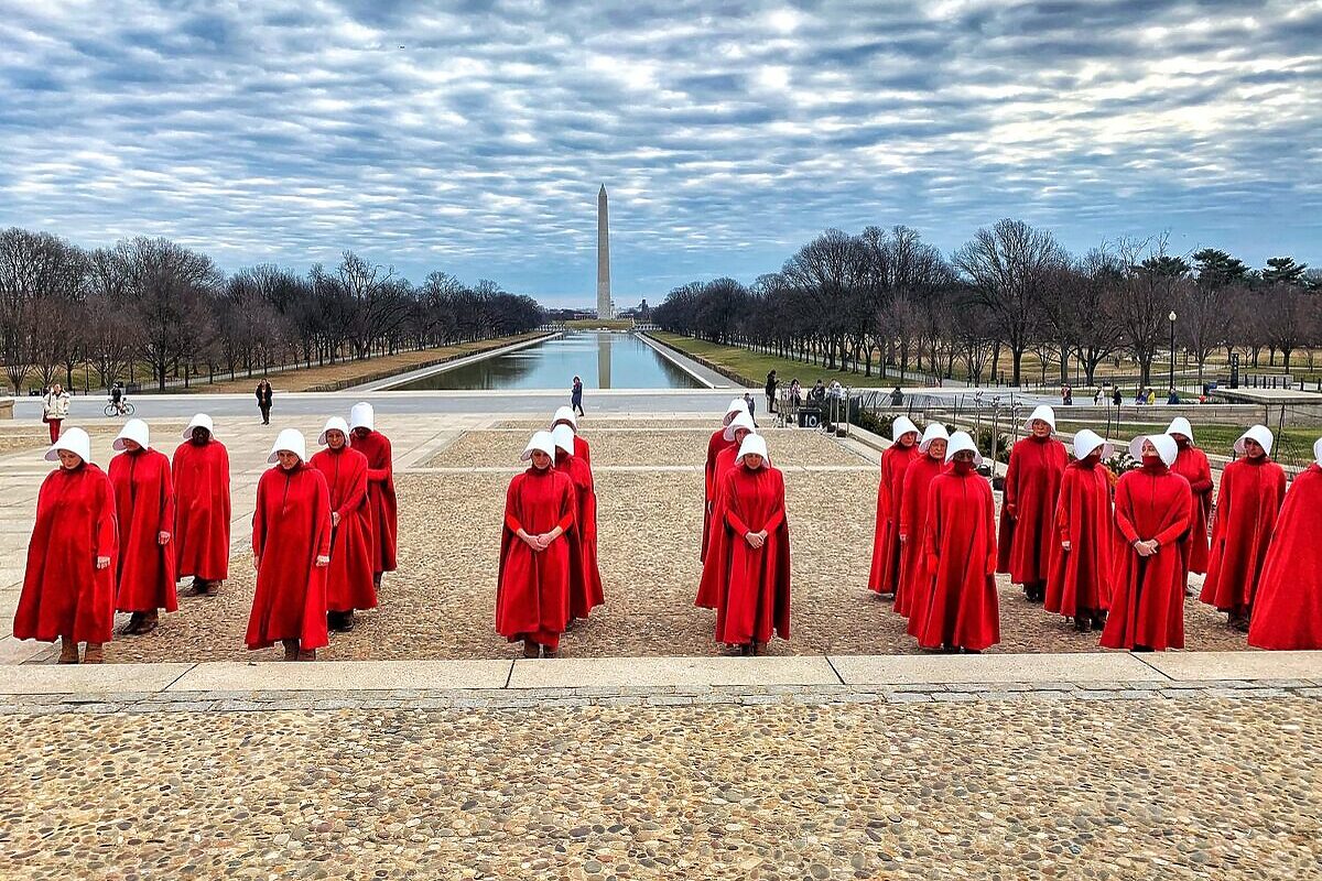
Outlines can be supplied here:
[[[48, 474], [37, 494], [15, 638], [110, 642], [118, 549], [115, 489], [106, 473], [86, 462]], [[99, 556], [110, 557], [108, 568], [97, 568]]]

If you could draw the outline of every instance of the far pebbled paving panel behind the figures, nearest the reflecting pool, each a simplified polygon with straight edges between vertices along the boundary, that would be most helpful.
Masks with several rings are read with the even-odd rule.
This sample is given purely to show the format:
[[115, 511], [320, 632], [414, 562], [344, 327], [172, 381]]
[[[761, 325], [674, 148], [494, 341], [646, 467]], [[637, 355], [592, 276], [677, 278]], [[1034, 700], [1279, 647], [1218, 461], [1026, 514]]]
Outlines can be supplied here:
[[[714, 428], [583, 432], [592, 446], [595, 465], [695, 465], [707, 461], [707, 440]], [[867, 465], [858, 453], [820, 432], [768, 429], [764, 432], [772, 461], [780, 465]], [[465, 432], [430, 462], [431, 468], [480, 468], [518, 465], [527, 446], [524, 431]]]

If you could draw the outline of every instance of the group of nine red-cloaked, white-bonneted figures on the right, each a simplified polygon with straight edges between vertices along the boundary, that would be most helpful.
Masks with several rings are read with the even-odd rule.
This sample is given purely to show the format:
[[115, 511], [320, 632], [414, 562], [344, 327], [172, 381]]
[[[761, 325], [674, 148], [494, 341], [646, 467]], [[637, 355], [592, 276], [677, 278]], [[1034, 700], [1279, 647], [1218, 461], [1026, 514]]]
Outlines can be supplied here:
[[1104, 647], [1183, 649], [1192, 572], [1206, 575], [1202, 602], [1251, 646], [1322, 649], [1322, 439], [1286, 491], [1270, 429], [1249, 428], [1222, 472], [1214, 516], [1211, 465], [1187, 419], [1136, 437], [1129, 450], [1141, 464], [1118, 478], [1103, 462], [1112, 445], [1092, 431], [1075, 435], [1069, 456], [1050, 407], [1026, 429], [997, 523], [968, 435], [929, 424], [920, 436], [910, 419], [894, 421], [869, 588], [894, 597], [920, 647], [978, 652], [999, 642], [1001, 572], [1076, 630], [1100, 630]]

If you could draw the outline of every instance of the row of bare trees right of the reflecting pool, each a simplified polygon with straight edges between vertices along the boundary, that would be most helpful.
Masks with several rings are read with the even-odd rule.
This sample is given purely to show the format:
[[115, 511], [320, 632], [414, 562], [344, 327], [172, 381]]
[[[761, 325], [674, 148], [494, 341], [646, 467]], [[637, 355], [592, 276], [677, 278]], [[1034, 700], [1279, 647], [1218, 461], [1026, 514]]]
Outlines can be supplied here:
[[664, 329], [719, 343], [853, 370], [898, 369], [993, 382], [1009, 363], [1015, 386], [1032, 353], [1046, 371], [1071, 369], [1095, 384], [1097, 369], [1132, 358], [1150, 384], [1159, 354], [1175, 347], [1203, 382], [1214, 354], [1243, 351], [1289, 371], [1322, 346], [1322, 273], [1290, 258], [1260, 271], [1224, 251], [1167, 254], [1165, 239], [1105, 243], [1081, 256], [1022, 221], [1005, 219], [949, 256], [908, 227], [828, 230], [780, 272], [752, 285], [734, 279], [676, 288], [653, 310]]

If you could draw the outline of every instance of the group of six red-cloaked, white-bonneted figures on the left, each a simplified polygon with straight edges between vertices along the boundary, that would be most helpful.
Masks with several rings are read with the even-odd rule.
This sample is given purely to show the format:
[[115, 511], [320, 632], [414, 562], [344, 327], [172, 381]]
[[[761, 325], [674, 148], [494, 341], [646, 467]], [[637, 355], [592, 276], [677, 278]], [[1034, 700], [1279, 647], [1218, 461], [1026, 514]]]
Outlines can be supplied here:
[[[348, 423], [332, 417], [311, 460], [300, 432], [279, 433], [253, 514], [249, 649], [279, 642], [286, 660], [312, 660], [330, 630], [375, 608], [382, 573], [395, 569], [398, 509], [390, 441], [374, 420], [366, 403]], [[213, 596], [229, 577], [230, 461], [210, 416], [193, 417], [173, 461], [140, 419], [114, 449], [103, 472], [87, 432], [69, 428], [46, 453], [59, 468], [37, 495], [13, 634], [59, 639], [59, 663], [102, 663], [116, 612], [131, 616], [126, 635], [155, 630], [163, 610], [178, 610], [180, 579]]]

